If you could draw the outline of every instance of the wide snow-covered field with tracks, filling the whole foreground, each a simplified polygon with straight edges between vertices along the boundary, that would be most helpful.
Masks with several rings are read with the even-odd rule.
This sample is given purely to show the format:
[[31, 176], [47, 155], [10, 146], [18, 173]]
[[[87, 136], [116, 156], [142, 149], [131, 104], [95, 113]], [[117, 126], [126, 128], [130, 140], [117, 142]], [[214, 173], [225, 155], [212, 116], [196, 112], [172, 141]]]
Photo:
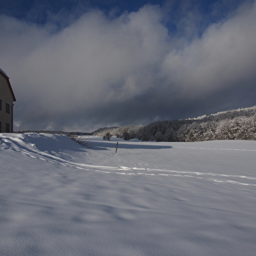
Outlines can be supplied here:
[[256, 141], [86, 138], [0, 134], [0, 255], [256, 255]]

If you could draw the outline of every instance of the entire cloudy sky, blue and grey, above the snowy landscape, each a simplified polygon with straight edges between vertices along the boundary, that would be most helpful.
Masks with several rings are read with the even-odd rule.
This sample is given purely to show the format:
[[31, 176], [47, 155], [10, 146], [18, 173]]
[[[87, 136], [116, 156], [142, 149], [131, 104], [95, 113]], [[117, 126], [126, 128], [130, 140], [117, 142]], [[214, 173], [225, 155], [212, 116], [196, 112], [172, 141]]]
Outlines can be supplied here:
[[14, 130], [91, 131], [255, 105], [255, 1], [0, 4]]

